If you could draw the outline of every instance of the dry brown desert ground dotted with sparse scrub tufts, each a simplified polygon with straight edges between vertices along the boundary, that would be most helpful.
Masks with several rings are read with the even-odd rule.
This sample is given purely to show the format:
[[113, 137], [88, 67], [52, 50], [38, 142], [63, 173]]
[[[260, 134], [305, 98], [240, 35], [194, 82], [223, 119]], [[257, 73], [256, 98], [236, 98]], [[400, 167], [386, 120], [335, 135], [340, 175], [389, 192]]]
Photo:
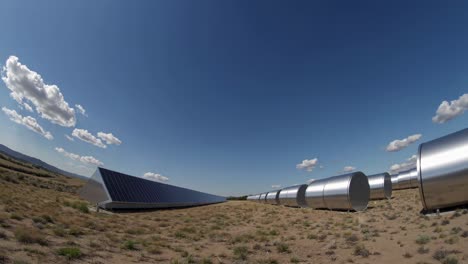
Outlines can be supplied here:
[[468, 210], [420, 214], [418, 190], [364, 212], [247, 201], [96, 212], [83, 181], [0, 155], [0, 263], [468, 263]]

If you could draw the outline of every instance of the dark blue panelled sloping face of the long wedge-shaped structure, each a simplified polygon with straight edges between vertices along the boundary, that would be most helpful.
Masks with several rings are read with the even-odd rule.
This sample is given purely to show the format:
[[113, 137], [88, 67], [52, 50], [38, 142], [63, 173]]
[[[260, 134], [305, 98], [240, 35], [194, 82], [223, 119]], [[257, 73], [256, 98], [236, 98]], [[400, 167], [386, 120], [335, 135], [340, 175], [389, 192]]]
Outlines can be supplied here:
[[154, 182], [99, 168], [113, 202], [145, 204], [208, 204], [223, 202], [221, 196]]

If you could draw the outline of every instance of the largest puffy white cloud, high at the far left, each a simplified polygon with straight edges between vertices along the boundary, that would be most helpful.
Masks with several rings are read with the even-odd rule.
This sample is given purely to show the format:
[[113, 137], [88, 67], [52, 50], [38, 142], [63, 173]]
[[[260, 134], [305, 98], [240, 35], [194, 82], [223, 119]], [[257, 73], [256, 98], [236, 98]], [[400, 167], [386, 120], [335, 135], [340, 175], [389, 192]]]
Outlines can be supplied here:
[[17, 57], [7, 59], [2, 80], [11, 90], [10, 96], [20, 105], [27, 100], [42, 118], [64, 127], [75, 126], [75, 109], [65, 101], [58, 86], [45, 84], [41, 75], [21, 64]]

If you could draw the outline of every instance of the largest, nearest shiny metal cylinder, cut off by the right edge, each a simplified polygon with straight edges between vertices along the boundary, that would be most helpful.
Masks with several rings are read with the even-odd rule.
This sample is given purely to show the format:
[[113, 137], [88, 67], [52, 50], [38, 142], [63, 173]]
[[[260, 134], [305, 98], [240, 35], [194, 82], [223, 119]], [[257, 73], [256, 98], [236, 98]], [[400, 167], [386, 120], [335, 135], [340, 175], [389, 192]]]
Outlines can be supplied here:
[[424, 209], [468, 203], [468, 129], [419, 145], [416, 169]]

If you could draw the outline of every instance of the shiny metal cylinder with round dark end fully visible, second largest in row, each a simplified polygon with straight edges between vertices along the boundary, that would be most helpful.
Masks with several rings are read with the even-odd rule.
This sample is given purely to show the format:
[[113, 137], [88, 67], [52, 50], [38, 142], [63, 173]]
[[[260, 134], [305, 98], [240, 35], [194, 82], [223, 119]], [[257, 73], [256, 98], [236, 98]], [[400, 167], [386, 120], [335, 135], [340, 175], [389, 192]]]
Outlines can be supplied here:
[[309, 207], [362, 211], [367, 208], [370, 186], [367, 176], [353, 172], [312, 182], [306, 190]]

